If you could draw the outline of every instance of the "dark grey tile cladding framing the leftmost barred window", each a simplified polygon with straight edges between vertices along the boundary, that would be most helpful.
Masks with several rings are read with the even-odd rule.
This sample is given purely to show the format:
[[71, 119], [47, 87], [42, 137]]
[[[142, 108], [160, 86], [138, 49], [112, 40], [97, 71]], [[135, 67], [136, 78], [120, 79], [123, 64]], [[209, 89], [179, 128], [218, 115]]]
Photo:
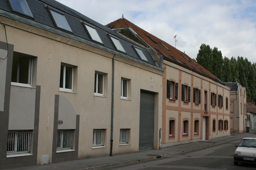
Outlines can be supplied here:
[[[40, 86], [36, 86], [35, 122], [34, 122], [34, 130], [33, 130], [33, 141], [31, 141], [31, 143], [33, 143], [33, 148], [32, 148], [33, 155], [6, 158], [10, 93], [11, 93], [13, 47], [14, 47], [14, 45], [8, 44], [9, 51], [8, 51], [7, 67], [6, 67], [4, 111], [0, 113], [0, 169], [1, 170], [33, 166], [33, 165], [37, 164], [39, 106], [40, 106], [40, 91], [41, 91]], [[0, 42], [0, 48], [7, 50], [6, 43]]]

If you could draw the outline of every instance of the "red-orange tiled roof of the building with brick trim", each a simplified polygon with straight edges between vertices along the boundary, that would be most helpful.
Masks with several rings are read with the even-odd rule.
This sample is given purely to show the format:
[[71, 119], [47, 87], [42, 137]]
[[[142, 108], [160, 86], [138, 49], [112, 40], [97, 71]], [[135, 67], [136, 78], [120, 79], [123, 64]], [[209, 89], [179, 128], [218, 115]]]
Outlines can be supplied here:
[[[107, 24], [106, 27], [109, 27], [111, 29], [131, 28], [138, 34], [140, 38], [142, 38], [148, 45], [150, 45], [158, 53], [158, 55], [164, 56], [164, 59], [169, 60], [184, 68], [190, 69], [214, 81], [222, 83], [216, 76], [214, 76], [204, 67], [202, 67], [196, 61], [190, 58], [187, 54], [178, 50], [167, 42], [164, 42], [163, 40], [157, 38], [156, 36], [148, 33], [147, 31], [141, 29], [140, 27], [136, 26], [125, 18], [120, 18], [114, 22], [111, 22]], [[143, 42], [141, 42], [141, 44], [144, 45]]]

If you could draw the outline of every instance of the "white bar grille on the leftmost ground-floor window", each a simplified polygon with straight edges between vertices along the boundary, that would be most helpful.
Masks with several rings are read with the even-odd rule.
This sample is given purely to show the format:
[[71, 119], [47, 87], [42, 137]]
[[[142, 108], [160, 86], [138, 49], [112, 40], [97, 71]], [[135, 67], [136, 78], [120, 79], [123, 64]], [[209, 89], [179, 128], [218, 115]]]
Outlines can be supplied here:
[[30, 152], [31, 132], [8, 132], [7, 153]]

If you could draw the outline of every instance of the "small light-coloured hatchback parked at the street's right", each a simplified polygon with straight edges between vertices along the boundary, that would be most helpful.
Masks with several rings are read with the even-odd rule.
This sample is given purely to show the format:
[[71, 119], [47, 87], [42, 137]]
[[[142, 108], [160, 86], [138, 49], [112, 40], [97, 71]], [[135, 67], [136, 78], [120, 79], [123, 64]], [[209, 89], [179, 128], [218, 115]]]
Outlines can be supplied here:
[[234, 164], [256, 163], [256, 137], [244, 137], [240, 141], [234, 154]]

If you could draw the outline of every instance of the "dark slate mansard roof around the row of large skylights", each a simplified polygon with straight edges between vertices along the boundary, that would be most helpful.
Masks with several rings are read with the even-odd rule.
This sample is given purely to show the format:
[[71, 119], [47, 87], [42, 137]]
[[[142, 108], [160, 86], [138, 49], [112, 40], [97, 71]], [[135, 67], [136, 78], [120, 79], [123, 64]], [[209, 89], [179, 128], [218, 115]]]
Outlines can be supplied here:
[[[99, 44], [99, 43], [97, 44], [97, 42], [91, 41], [90, 45], [96, 44], [96, 45], [94, 45], [95, 47], [101, 48], [103, 50], [106, 50], [106, 51], [109, 51], [112, 53], [117, 51], [115, 54], [120, 54], [120, 56], [123, 56], [123, 57], [124, 56], [127, 57], [127, 55], [128, 55], [129, 56], [129, 57], [127, 57], [128, 59], [136, 58], [136, 59], [134, 59], [134, 61], [137, 61], [144, 65], [151, 66], [153, 68], [163, 71], [162, 68], [160, 68], [156, 65], [156, 63], [155, 63], [153, 57], [151, 56], [150, 52], [148, 51], [148, 49], [142, 48], [141, 50], [143, 51], [144, 55], [146, 56], [149, 64], [147, 62], [141, 60], [140, 57], [137, 55], [137, 53], [135, 52], [135, 50], [132, 47], [132, 44], [136, 45], [134, 42], [127, 40], [123, 36], [120, 36], [119, 34], [117, 34], [115, 31], [105, 27], [104, 25], [97, 23], [96, 21], [84, 16], [83, 14], [81, 14], [81, 13], [55, 1], [55, 0], [26, 0], [26, 1], [28, 3], [30, 11], [34, 17], [34, 20], [24, 17], [23, 15], [19, 15], [17, 13], [12, 12], [7, 3], [7, 0], [0, 0], [0, 9], [11, 12], [15, 15], [22, 16], [24, 19], [19, 20], [15, 17], [12, 18], [12, 19], [19, 20], [20, 22], [24, 22], [25, 20], [30, 19], [37, 23], [50, 26], [53, 29], [58, 29], [55, 27], [54, 22], [49, 14], [47, 8], [45, 7], [45, 5], [47, 5], [49, 7], [56, 9], [57, 12], [62, 12], [65, 14], [65, 18], [66, 18], [73, 34], [61, 30], [61, 32], [62, 32], [61, 35], [64, 35], [64, 36], [67, 35], [67, 37], [69, 37], [69, 38], [70, 37], [72, 38], [72, 36], [73, 37], [77, 36], [78, 38], [76, 40], [81, 40], [81, 38], [82, 38], [82, 39], [87, 40], [87, 42], [91, 41], [87, 31], [85, 30], [85, 28], [83, 27], [83, 24], [81, 23], [81, 21], [87, 22], [96, 27], [96, 30], [104, 44], [104, 45]], [[5, 16], [10, 17], [10, 15], [8, 15], [8, 14], [6, 14]], [[33, 24], [35, 22], [27, 22], [27, 24], [31, 24], [35, 27], [39, 27], [37, 24]], [[44, 28], [44, 27], [40, 27], [40, 28]], [[55, 31], [55, 33], [56, 33], [56, 31]], [[112, 43], [112, 41], [110, 40], [108, 34], [114, 35], [119, 39], [120, 43], [122, 44], [123, 48], [126, 51], [126, 54], [116, 50], [116, 48], [115, 48], [114, 44]]]

